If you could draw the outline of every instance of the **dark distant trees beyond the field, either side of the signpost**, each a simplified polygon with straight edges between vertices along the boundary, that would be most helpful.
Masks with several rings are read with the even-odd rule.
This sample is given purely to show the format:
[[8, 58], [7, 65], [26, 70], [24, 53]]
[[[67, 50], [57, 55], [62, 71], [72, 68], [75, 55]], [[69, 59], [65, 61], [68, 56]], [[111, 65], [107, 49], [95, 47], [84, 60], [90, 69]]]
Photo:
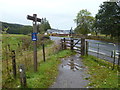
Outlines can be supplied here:
[[[44, 33], [47, 29], [51, 29], [49, 21], [46, 18], [42, 18], [41, 23], [37, 25], [38, 33]], [[20, 25], [2, 22], [3, 34], [31, 34], [33, 32], [33, 26]]]

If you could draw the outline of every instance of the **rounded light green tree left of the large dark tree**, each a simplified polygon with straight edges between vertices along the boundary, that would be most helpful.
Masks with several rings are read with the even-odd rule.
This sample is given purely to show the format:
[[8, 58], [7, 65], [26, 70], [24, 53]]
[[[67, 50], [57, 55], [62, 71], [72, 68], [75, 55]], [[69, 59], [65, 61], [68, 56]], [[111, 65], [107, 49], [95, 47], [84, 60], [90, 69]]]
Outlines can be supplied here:
[[79, 11], [74, 21], [77, 25], [75, 28], [76, 33], [87, 35], [90, 31], [92, 31], [94, 17], [92, 17], [91, 13], [86, 9]]

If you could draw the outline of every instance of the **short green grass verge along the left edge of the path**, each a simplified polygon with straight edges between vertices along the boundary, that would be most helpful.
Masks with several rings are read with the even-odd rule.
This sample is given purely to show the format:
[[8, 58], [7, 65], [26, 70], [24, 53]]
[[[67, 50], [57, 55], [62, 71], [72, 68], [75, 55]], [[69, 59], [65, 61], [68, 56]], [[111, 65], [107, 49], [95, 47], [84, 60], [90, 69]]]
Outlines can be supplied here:
[[[60, 59], [72, 55], [69, 50], [63, 50], [56, 54], [52, 54], [47, 58], [46, 62], [41, 61], [38, 65], [38, 71], [26, 71], [27, 88], [49, 88], [55, 81], [58, 74], [58, 65]], [[9, 88], [20, 88], [19, 79], [7, 84]]]

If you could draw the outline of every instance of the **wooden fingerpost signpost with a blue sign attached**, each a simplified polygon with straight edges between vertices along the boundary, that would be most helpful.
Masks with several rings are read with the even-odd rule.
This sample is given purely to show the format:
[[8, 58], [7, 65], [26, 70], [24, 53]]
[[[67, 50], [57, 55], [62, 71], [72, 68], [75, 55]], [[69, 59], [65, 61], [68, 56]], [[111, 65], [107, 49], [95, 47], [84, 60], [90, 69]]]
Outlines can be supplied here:
[[33, 51], [33, 59], [34, 59], [34, 71], [37, 71], [37, 22], [41, 22], [40, 18], [37, 18], [37, 14], [33, 14], [33, 16], [27, 15], [28, 20], [33, 21], [33, 33], [32, 33], [32, 41], [34, 51]]

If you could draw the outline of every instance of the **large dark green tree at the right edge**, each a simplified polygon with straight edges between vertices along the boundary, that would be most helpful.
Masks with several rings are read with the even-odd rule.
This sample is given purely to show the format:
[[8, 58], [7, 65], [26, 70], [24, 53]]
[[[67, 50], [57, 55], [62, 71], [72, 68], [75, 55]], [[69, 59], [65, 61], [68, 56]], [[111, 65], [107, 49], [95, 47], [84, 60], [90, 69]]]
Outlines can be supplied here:
[[96, 31], [120, 38], [120, 7], [115, 2], [104, 2], [95, 16]]

